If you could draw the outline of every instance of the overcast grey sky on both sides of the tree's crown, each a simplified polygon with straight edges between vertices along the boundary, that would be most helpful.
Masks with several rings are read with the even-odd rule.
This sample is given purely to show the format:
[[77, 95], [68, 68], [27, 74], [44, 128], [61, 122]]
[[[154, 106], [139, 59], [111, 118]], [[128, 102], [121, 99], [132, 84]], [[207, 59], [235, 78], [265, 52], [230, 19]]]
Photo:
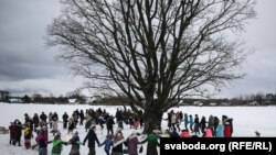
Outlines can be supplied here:
[[[243, 65], [244, 79], [223, 88], [217, 97], [276, 93], [276, 0], [258, 0], [257, 19], [243, 34], [256, 52]], [[46, 26], [60, 14], [59, 0], [0, 0], [0, 90], [11, 95], [65, 95], [82, 86], [46, 48]]]

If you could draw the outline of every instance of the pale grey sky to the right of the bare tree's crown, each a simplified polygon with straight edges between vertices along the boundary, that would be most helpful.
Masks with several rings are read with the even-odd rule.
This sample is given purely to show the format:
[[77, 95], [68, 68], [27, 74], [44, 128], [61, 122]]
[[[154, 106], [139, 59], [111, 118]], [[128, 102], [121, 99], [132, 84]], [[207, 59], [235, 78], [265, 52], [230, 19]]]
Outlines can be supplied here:
[[247, 76], [225, 88], [221, 96], [237, 97], [258, 92], [276, 93], [276, 1], [258, 0], [256, 5], [257, 19], [246, 25], [243, 37], [247, 47], [254, 47], [242, 71]]

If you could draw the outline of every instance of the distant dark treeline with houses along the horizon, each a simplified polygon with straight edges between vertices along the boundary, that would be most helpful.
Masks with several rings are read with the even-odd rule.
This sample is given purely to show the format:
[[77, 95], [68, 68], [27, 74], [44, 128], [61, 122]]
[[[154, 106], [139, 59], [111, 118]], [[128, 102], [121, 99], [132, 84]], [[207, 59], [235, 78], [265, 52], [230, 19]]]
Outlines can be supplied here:
[[[70, 99], [74, 99], [74, 102], [70, 102]], [[1, 101], [1, 100], [0, 100]], [[19, 102], [19, 103], [53, 103], [53, 104], [65, 104], [65, 103], [91, 103], [91, 104], [110, 104], [120, 106], [127, 104], [127, 97], [100, 97], [97, 100], [89, 100], [85, 96], [68, 96], [68, 97], [43, 97], [41, 95], [33, 95], [31, 97], [8, 97], [4, 102]], [[185, 98], [181, 99], [179, 106], [276, 106], [276, 93], [257, 93], [241, 96], [232, 99], [194, 99]]]

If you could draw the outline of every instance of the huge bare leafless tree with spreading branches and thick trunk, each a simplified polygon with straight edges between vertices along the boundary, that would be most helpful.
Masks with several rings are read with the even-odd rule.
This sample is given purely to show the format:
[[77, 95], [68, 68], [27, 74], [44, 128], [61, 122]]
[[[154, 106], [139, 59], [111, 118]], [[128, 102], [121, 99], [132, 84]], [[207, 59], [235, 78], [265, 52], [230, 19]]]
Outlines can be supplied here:
[[[74, 74], [145, 110], [145, 132], [181, 98], [241, 78], [248, 54], [241, 34], [255, 18], [252, 0], [62, 0], [47, 44]], [[208, 88], [208, 89], [206, 89]], [[213, 89], [211, 89], [213, 88]]]

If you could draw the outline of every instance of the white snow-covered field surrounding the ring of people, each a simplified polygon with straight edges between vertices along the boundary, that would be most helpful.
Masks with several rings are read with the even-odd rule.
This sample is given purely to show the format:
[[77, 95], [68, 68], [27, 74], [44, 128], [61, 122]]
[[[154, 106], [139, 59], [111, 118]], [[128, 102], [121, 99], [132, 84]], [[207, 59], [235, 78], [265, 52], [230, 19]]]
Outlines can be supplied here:
[[[68, 115], [73, 113], [76, 109], [86, 110], [86, 109], [98, 109], [99, 106], [74, 106], [74, 104], [8, 104], [0, 103], [0, 126], [8, 128], [10, 122], [19, 119], [21, 122], [24, 122], [24, 113], [29, 113], [30, 117], [33, 117], [34, 113], [41, 113], [44, 111], [46, 114], [49, 112], [57, 112], [59, 118], [62, 118], [64, 112], [67, 112]], [[102, 109], [106, 109], [110, 114], [115, 114], [118, 107], [105, 107], [102, 106]], [[255, 131], [261, 133], [261, 136], [276, 136], [276, 107], [180, 107], [176, 108], [174, 111], [181, 110], [183, 113], [188, 114], [199, 114], [201, 118], [205, 115], [209, 118], [210, 114], [221, 118], [223, 114], [230, 118], [233, 118], [234, 133], [233, 136], [255, 136]], [[167, 114], [163, 115], [167, 118]], [[116, 130], [117, 124], [115, 125]], [[167, 122], [162, 122], [162, 128], [167, 128]], [[183, 129], [183, 124], [180, 125]], [[67, 131], [62, 129], [62, 124], [59, 124], [59, 129], [62, 132], [62, 140], [66, 141], [68, 135]], [[81, 141], [83, 141], [86, 132], [84, 126], [77, 126]], [[123, 133], [127, 137], [132, 132], [132, 129], [125, 125]], [[139, 129], [138, 132], [141, 132]], [[103, 131], [97, 126], [96, 131], [99, 142], [103, 142], [106, 136], [106, 130]], [[50, 134], [50, 140], [53, 139], [53, 135]], [[23, 144], [23, 136], [21, 139], [21, 144]], [[32, 144], [34, 144], [32, 140]], [[86, 143], [87, 145], [87, 143]], [[145, 148], [147, 144], [144, 144]], [[47, 147], [49, 154], [51, 154], [52, 144]], [[64, 146], [62, 154], [67, 155], [70, 153], [71, 145]], [[38, 150], [25, 150], [23, 146], [12, 146], [9, 144], [9, 134], [0, 134], [0, 154], [1, 155], [38, 155]], [[81, 146], [81, 154], [87, 155], [88, 147]], [[97, 155], [105, 155], [104, 147], [96, 147]], [[141, 155], [146, 154], [145, 151]]]

